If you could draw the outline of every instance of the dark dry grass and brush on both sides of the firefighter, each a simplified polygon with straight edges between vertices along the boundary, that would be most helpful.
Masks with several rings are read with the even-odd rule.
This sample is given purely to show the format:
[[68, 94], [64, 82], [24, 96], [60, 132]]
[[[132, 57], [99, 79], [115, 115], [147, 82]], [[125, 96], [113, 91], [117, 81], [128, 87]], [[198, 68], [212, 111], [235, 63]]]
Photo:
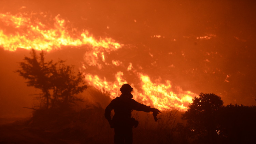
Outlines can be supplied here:
[[[105, 106], [111, 101], [109, 93], [96, 89], [88, 93], [94, 99], [79, 102], [73, 109], [34, 111], [33, 117], [24, 123], [26, 135], [31, 135], [29, 132], [37, 135], [34, 143], [54, 139], [56, 144], [113, 144], [114, 129], [104, 117]], [[133, 111], [132, 116], [139, 120], [139, 126], [133, 128], [133, 144], [179, 143], [176, 136], [178, 113], [177, 110], [163, 111], [155, 122], [152, 113]], [[11, 143], [12, 138], [6, 142]]]

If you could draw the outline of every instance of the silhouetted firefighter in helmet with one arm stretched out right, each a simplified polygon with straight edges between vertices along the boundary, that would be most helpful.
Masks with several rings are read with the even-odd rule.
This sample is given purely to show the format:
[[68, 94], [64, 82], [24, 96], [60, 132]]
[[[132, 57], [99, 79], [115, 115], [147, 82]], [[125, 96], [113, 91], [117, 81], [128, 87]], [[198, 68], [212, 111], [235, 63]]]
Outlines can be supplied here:
[[[105, 109], [105, 118], [109, 121], [110, 127], [114, 128], [115, 144], [132, 144], [132, 127], [138, 126], [139, 122], [131, 117], [132, 110], [153, 112], [155, 121], [159, 110], [146, 106], [132, 99], [133, 88], [129, 84], [124, 84], [120, 91], [122, 95], [116, 97]], [[115, 115], [111, 119], [110, 113], [114, 109]]]

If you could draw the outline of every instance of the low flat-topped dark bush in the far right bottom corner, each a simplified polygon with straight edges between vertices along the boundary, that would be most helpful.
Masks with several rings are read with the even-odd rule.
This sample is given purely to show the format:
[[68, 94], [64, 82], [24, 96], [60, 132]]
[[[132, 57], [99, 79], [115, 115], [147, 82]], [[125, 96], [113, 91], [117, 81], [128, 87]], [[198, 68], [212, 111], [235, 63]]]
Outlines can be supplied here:
[[222, 143], [256, 142], [256, 106], [232, 105], [218, 113]]

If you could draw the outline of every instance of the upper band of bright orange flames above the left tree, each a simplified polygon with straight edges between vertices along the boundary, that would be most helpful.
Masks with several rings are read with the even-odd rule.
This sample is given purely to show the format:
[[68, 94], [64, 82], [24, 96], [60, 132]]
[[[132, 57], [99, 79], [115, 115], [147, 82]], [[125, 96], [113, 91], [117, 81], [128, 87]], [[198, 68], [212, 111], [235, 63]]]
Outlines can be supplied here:
[[6, 26], [11, 26], [17, 30], [14, 34], [6, 34], [0, 30], [0, 46], [8, 51], [15, 51], [17, 48], [51, 51], [61, 46], [89, 44], [97, 52], [102, 48], [104, 51], [110, 52], [121, 47], [121, 44], [111, 38], [96, 40], [89, 35], [87, 30], [76, 33], [76, 38], [72, 37], [65, 27], [67, 22], [60, 18], [60, 15], [54, 18], [54, 28], [46, 28], [46, 25], [40, 21], [32, 21], [21, 13], [16, 15], [0, 14], [0, 20]]

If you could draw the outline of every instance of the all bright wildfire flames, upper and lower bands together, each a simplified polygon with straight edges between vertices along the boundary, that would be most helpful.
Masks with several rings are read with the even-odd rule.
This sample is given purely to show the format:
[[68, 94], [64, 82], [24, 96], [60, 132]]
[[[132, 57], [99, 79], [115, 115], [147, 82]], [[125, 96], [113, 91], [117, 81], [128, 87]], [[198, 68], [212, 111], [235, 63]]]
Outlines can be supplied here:
[[[89, 45], [89, 51], [84, 55], [85, 63], [81, 66], [84, 70], [88, 66], [102, 68], [102, 63], [106, 65], [112, 65], [115, 68], [124, 66], [122, 61], [111, 60], [110, 63], [106, 62], [105, 54], [110, 54], [119, 48], [124, 46], [115, 42], [111, 38], [104, 38], [96, 40], [87, 30], [81, 32], [67, 28], [67, 21], [62, 19], [60, 15], [54, 17], [53, 27], [49, 27], [43, 24], [40, 19], [32, 20], [31, 15], [28, 14], [16, 14], [10, 13], [0, 14], [0, 24], [4, 28], [0, 29], [0, 46], [6, 51], [16, 51], [17, 48], [24, 49], [37, 49], [44, 51], [52, 51], [54, 49], [60, 49], [61, 46], [81, 47], [83, 45]], [[44, 17], [46, 17], [44, 15]], [[10, 32], [8, 29], [13, 29], [14, 32]], [[160, 36], [156, 36], [157, 38]], [[99, 63], [100, 62], [100, 63]], [[140, 80], [141, 87], [133, 87], [134, 99], [142, 102], [146, 105], [157, 107], [160, 110], [173, 107], [186, 111], [187, 104], [191, 102], [192, 98], [197, 96], [190, 91], [183, 91], [181, 88], [173, 88], [170, 81], [165, 83], [152, 82], [149, 76], [140, 72], [132, 70], [134, 69], [132, 63], [129, 63], [127, 71], [136, 73]], [[111, 98], [119, 96], [120, 87], [127, 83], [123, 78], [124, 73], [118, 71], [115, 74], [116, 80], [114, 82], [106, 81], [106, 78], [101, 79], [98, 75], [86, 74], [85, 80], [89, 85], [96, 87], [97, 89], [108, 90], [111, 94]], [[175, 93], [173, 89], [176, 89]]]

